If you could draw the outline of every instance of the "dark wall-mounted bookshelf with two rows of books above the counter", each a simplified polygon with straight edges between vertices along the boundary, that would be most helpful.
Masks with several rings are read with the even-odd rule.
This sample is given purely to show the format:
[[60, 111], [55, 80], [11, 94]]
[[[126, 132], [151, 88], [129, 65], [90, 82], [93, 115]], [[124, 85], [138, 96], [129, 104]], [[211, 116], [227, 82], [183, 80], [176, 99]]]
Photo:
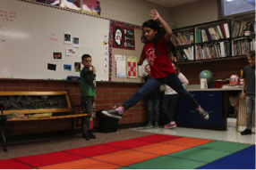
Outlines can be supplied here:
[[[256, 50], [256, 32], [252, 31], [254, 18], [256, 13], [173, 29], [176, 37], [179, 37], [178, 33], [193, 36], [193, 42], [189, 45], [175, 44], [174, 37], [171, 38], [177, 51], [193, 49], [191, 60], [185, 60], [187, 53], [178, 53], [178, 58], [182, 56], [183, 60], [176, 59], [176, 61], [187, 64], [245, 58], [248, 51]], [[251, 35], [245, 36], [246, 30], [251, 30]], [[174, 57], [172, 60], [175, 61]]]

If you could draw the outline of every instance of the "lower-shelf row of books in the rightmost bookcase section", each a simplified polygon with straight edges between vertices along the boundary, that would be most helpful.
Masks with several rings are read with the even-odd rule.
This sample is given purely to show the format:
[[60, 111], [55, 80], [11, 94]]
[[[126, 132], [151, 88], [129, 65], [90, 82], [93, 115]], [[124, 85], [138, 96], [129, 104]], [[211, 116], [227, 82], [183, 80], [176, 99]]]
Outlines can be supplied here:
[[243, 39], [233, 42], [234, 56], [246, 55], [249, 51], [256, 50], [256, 39]]

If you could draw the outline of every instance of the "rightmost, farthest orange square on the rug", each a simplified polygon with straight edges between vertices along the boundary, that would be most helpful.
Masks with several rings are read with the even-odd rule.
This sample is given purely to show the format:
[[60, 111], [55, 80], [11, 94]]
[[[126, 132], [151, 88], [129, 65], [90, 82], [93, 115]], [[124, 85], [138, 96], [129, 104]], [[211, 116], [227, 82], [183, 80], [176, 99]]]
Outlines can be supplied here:
[[214, 142], [214, 141], [183, 137], [183, 138], [180, 138], [180, 139], [176, 139], [176, 140], [173, 140], [173, 141], [162, 142], [162, 143], [178, 145], [178, 146], [195, 147], [195, 146], [199, 146], [199, 145], [209, 143], [209, 142]]

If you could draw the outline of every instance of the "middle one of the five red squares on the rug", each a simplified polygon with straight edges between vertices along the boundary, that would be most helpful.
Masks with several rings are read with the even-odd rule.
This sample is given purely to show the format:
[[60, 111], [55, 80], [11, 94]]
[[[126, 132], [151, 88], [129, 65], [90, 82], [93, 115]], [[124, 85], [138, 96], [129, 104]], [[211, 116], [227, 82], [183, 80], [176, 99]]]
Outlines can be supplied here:
[[73, 150], [64, 150], [65, 152], [72, 153], [75, 155], [80, 155], [83, 157], [95, 157], [98, 155], [104, 155], [107, 153], [112, 153], [116, 151], [120, 151], [123, 149], [117, 149], [114, 147], [109, 147], [109, 146], [104, 146], [104, 145], [93, 145], [93, 146], [88, 146], [88, 147], [83, 147], [83, 148], [77, 148]]

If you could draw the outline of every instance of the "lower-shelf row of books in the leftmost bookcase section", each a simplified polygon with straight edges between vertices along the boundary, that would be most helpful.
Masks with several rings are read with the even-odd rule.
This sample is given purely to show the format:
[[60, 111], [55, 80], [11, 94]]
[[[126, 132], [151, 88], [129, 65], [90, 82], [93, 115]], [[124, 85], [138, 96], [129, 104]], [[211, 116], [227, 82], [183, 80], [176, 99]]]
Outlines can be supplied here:
[[171, 60], [175, 62], [193, 61], [193, 46], [186, 49], [178, 49], [177, 57], [171, 56]]

